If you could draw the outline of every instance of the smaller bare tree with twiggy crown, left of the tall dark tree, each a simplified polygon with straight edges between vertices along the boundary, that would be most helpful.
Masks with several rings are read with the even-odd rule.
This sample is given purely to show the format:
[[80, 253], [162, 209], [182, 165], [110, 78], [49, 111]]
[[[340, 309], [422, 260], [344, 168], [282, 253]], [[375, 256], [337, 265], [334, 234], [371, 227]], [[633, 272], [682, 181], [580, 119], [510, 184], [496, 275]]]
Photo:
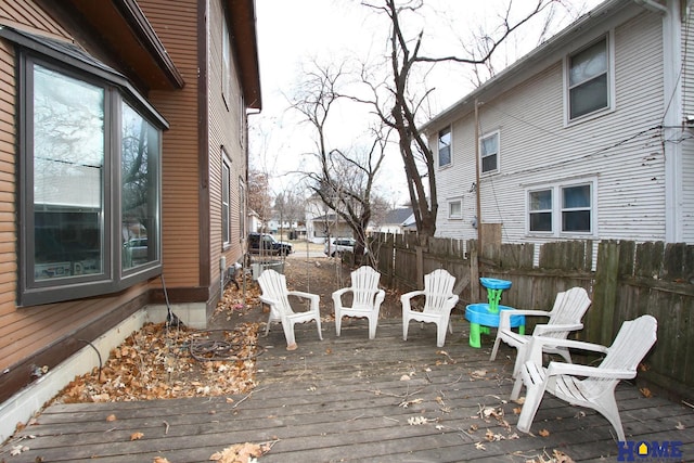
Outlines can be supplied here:
[[331, 111], [344, 95], [339, 83], [346, 77], [344, 67], [312, 63], [304, 75], [292, 107], [316, 133], [317, 171], [305, 172], [309, 188], [352, 230], [357, 240], [355, 254], [363, 255], [367, 227], [372, 214], [372, 190], [388, 143], [388, 129], [383, 125], [371, 130], [369, 147], [330, 149], [327, 123]]

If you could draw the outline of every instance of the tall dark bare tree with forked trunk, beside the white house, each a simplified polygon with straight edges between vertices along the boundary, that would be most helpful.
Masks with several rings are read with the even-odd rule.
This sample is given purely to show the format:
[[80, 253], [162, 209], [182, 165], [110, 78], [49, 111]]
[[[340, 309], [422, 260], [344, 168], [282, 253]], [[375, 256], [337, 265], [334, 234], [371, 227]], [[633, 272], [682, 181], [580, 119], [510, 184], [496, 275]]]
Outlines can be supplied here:
[[555, 2], [560, 2], [560, 0], [535, 0], [532, 8], [517, 20], [512, 20], [511, 5], [513, 2], [510, 2], [505, 10], [505, 15], [500, 16], [500, 26], [493, 30], [493, 34], [478, 37], [481, 43], [474, 49], [474, 53], [470, 53], [468, 56], [447, 55], [434, 57], [420, 54], [424, 31], [420, 30], [417, 35], [410, 38], [406, 36], [406, 28], [402, 24], [402, 18], [408, 13], [416, 13], [423, 7], [423, 0], [407, 0], [402, 2], [384, 0], [380, 4], [362, 1], [363, 5], [385, 14], [389, 18], [388, 55], [393, 80], [389, 83], [385, 83], [388, 97], [384, 99], [377, 97], [378, 92], [383, 90], [378, 85], [362, 79], [372, 89], [374, 98], [372, 100], [359, 100], [372, 103], [375, 113], [383, 123], [398, 133], [399, 150], [404, 163], [410, 201], [416, 229], [422, 239], [434, 236], [438, 198], [434, 153], [429, 149], [424, 134], [417, 128], [417, 124], [421, 121], [417, 119], [417, 112], [426, 102], [429, 91], [425, 90], [416, 94], [410, 88], [414, 67], [417, 64], [428, 63], [432, 65], [441, 62], [470, 65], [489, 63], [492, 54], [505, 39], [531, 17]]

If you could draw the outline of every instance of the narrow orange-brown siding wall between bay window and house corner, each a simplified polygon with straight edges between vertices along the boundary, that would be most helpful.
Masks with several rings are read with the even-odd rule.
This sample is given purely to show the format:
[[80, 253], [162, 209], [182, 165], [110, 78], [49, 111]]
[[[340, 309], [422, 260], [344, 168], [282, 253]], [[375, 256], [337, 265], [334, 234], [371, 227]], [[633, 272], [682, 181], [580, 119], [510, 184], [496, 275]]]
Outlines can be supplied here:
[[162, 171], [166, 284], [167, 288], [196, 287], [201, 280], [197, 2], [143, 0], [138, 4], [185, 80], [183, 90], [152, 92], [150, 100], [170, 124], [164, 133]]

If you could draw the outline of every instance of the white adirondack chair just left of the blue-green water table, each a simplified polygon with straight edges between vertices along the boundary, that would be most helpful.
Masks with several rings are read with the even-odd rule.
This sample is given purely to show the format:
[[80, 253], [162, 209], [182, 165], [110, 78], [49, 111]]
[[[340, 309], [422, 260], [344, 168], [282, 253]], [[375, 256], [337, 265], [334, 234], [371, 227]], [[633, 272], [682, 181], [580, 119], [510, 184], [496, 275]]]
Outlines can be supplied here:
[[[402, 339], [408, 339], [410, 320], [436, 323], [436, 345], [444, 347], [446, 329], [453, 333], [450, 323], [451, 310], [458, 304], [458, 295], [453, 294], [455, 276], [444, 269], [434, 270], [424, 275], [424, 291], [412, 291], [400, 296], [402, 303]], [[424, 310], [412, 310], [411, 299], [424, 296]]]

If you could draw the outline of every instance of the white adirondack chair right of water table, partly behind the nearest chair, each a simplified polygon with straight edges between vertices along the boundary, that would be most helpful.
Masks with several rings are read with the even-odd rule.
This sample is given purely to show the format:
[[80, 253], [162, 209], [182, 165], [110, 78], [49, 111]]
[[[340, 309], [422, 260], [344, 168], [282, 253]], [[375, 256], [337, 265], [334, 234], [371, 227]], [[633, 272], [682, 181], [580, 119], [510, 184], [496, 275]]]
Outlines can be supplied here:
[[[499, 319], [499, 330], [497, 330], [497, 340], [491, 349], [489, 360], [497, 358], [499, 344], [503, 340], [507, 345], [515, 347], [516, 363], [513, 368], [513, 377], [516, 377], [520, 366], [527, 360], [527, 347], [530, 335], [518, 334], [511, 330], [511, 316], [541, 316], [548, 317], [545, 324], [538, 324], [532, 330], [532, 336], [554, 337], [557, 339], [566, 339], [571, 331], [581, 330], [583, 324], [581, 319], [590, 307], [591, 300], [588, 293], [582, 287], [573, 287], [566, 292], [558, 293], [554, 300], [552, 311], [545, 310], [502, 310]], [[552, 344], [544, 345], [547, 353], [557, 353], [567, 362], [571, 363], [571, 355], [566, 347], [554, 346]]]

